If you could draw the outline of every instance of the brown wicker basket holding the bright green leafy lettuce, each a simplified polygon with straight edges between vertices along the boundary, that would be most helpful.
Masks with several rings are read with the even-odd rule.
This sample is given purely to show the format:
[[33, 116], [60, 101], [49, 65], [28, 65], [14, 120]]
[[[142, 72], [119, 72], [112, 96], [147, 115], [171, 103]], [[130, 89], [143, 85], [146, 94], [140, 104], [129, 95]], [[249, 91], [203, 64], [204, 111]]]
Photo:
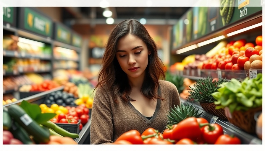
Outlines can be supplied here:
[[248, 133], [256, 133], [256, 121], [254, 119], [254, 114], [258, 111], [262, 111], [262, 106], [250, 109], [248, 111], [234, 111], [231, 115], [232, 118], [227, 116], [227, 119], [233, 125], [243, 129]]

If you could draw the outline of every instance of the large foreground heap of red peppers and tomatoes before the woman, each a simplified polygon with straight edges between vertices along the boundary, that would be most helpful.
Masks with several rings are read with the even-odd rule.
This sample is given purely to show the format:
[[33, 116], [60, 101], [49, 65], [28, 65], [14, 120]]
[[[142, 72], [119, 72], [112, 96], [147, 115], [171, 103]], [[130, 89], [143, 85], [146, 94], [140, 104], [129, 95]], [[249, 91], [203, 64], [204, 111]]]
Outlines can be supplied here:
[[143, 134], [130, 130], [119, 136], [112, 144], [241, 144], [239, 138], [224, 134], [219, 124], [209, 124], [204, 118], [189, 117], [163, 131], [153, 128], [146, 129]]

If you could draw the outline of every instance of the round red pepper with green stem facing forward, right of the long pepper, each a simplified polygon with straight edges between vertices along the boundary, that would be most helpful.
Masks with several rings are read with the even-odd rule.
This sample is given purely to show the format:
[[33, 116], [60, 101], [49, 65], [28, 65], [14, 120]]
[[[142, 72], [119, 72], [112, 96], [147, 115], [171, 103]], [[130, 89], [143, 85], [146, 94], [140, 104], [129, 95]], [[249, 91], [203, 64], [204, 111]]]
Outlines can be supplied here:
[[201, 128], [203, 140], [207, 144], [214, 144], [219, 136], [224, 134], [223, 128], [219, 124], [209, 124]]

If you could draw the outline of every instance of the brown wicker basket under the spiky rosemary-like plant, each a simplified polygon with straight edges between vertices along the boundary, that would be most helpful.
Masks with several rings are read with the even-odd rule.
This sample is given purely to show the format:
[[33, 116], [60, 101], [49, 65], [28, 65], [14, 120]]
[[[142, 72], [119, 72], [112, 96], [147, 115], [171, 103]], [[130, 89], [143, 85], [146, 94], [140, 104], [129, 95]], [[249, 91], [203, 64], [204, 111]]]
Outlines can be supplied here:
[[214, 103], [200, 103], [201, 107], [208, 113], [213, 114], [216, 117], [219, 117], [222, 120], [227, 120], [225, 116], [224, 109], [215, 109]]

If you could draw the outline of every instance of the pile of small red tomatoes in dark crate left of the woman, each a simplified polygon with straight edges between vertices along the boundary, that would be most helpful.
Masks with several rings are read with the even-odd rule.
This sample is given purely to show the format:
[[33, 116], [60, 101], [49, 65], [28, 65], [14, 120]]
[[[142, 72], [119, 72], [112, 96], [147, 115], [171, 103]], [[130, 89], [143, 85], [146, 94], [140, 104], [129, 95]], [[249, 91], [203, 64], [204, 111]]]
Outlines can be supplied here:
[[88, 122], [89, 117], [89, 109], [86, 108], [84, 105], [79, 105], [77, 107], [70, 107], [66, 106], [66, 109], [68, 109], [68, 113], [64, 114], [58, 114], [56, 117], [51, 119], [51, 122], [54, 123], [71, 123], [71, 124], [77, 124], [78, 120], [81, 120], [79, 129], [81, 130], [83, 128], [83, 125], [85, 125]]

